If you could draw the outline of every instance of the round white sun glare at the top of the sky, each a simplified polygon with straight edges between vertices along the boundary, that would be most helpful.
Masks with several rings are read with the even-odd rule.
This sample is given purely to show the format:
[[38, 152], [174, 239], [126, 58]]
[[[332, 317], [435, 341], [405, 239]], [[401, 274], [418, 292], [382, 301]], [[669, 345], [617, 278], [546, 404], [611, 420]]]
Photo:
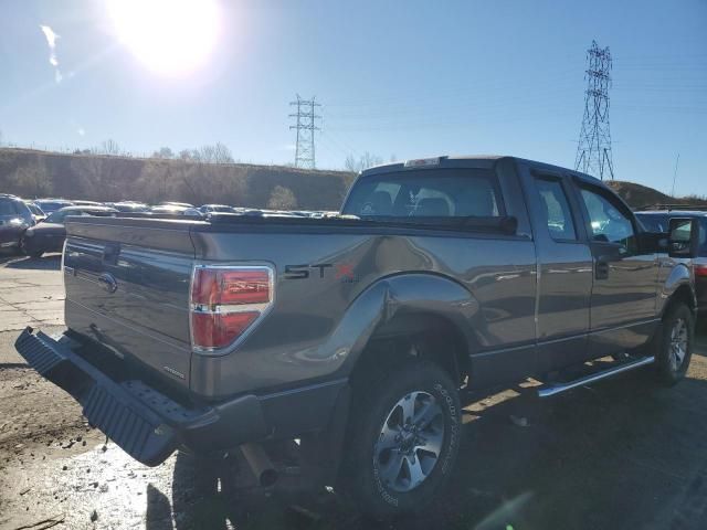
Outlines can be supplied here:
[[220, 30], [215, 0], [108, 0], [118, 39], [149, 70], [183, 75], [203, 65]]

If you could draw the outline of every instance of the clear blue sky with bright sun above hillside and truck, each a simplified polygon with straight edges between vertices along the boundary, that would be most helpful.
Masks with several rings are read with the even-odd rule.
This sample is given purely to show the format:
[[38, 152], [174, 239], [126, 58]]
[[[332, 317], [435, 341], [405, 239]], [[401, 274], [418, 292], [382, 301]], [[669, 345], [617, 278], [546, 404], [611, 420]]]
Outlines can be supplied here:
[[706, 0], [147, 4], [0, 0], [0, 144], [220, 141], [292, 163], [299, 94], [321, 103], [318, 168], [366, 152], [573, 167], [597, 40], [613, 57], [615, 178], [669, 192], [679, 155], [676, 194], [707, 194]]

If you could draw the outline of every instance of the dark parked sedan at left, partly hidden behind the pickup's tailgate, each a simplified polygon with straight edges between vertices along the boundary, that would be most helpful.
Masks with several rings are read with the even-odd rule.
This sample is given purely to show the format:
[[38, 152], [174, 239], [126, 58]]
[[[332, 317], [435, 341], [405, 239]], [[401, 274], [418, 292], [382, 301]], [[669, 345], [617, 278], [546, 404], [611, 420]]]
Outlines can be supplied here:
[[62, 252], [66, 239], [65, 219], [70, 215], [112, 216], [117, 210], [107, 206], [66, 206], [49, 214], [43, 223], [28, 229], [20, 240], [22, 252], [41, 257], [45, 252]]

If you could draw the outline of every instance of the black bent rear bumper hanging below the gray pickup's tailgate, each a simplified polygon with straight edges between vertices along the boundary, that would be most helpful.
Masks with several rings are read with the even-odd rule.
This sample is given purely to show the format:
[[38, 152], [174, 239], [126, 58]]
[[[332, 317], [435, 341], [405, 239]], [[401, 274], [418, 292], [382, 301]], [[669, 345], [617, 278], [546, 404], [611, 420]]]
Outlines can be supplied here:
[[210, 452], [262, 439], [273, 432], [263, 400], [243, 395], [215, 405], [184, 407], [138, 380], [114, 380], [62, 336], [54, 340], [27, 328], [18, 352], [41, 375], [68, 392], [88, 422], [136, 460], [161, 464], [180, 446]]

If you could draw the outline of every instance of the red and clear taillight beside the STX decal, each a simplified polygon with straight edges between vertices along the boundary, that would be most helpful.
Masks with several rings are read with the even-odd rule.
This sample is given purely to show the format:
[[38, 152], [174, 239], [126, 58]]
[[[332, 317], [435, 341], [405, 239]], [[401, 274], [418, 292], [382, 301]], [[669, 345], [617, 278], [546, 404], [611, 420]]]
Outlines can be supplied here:
[[193, 349], [219, 350], [243, 337], [271, 308], [273, 277], [266, 266], [196, 266], [190, 301]]

